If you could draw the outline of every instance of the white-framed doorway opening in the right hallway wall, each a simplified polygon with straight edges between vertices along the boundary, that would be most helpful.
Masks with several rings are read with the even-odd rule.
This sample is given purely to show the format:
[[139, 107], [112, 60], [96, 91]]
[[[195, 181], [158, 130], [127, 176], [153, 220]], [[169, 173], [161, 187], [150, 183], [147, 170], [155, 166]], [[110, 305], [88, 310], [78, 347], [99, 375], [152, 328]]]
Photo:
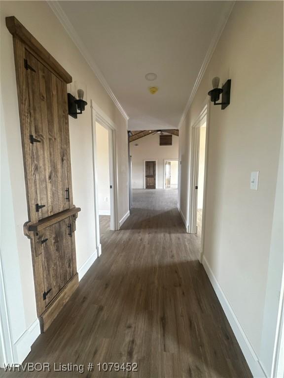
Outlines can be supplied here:
[[191, 127], [190, 154], [190, 190], [189, 190], [189, 222], [188, 232], [197, 234], [201, 240], [200, 261], [203, 254], [206, 167], [207, 167], [207, 135], [208, 105], [206, 105], [196, 122]]

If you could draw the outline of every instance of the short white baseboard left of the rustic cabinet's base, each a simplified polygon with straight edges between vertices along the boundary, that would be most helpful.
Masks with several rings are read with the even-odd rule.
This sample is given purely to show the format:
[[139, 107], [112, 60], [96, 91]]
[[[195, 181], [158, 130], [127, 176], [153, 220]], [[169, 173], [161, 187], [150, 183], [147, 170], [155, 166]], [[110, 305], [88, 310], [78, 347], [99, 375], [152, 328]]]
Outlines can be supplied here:
[[36, 318], [30, 327], [14, 343], [14, 363], [21, 364], [24, 361], [31, 351], [31, 346], [34, 344], [39, 335], [39, 320]]

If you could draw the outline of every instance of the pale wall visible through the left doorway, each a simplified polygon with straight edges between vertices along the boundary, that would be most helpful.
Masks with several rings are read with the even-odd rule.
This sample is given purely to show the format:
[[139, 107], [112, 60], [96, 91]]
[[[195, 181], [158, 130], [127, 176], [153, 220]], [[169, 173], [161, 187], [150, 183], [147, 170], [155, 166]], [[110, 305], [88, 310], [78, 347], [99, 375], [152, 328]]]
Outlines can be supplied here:
[[99, 214], [110, 215], [108, 130], [96, 122]]

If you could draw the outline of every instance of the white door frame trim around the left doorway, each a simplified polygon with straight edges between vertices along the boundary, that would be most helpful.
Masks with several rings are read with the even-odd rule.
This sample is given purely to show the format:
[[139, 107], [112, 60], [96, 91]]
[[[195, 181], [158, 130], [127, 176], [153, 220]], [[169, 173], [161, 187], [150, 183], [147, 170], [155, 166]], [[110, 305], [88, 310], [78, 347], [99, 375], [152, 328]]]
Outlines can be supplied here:
[[94, 206], [95, 206], [95, 225], [96, 225], [96, 246], [97, 254], [101, 255], [100, 219], [99, 219], [99, 197], [98, 197], [98, 170], [97, 170], [97, 151], [96, 151], [96, 122], [108, 130], [109, 147], [109, 190], [110, 197], [110, 229], [118, 230], [117, 220], [117, 167], [116, 167], [116, 128], [110, 118], [101, 108], [91, 100], [91, 124], [92, 124], [92, 152], [93, 152], [93, 181], [94, 181]]

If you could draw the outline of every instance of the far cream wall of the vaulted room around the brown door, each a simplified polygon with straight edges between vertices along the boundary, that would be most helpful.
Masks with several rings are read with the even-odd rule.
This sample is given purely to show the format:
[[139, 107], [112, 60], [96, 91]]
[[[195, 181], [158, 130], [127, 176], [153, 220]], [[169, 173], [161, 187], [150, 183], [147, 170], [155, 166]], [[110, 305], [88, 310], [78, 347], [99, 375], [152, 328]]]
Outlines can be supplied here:
[[132, 156], [132, 188], [143, 188], [144, 160], [154, 159], [158, 160], [156, 189], [163, 189], [164, 159], [178, 158], [178, 136], [173, 135], [172, 146], [160, 146], [158, 133], [144, 136], [130, 143], [130, 155]]

